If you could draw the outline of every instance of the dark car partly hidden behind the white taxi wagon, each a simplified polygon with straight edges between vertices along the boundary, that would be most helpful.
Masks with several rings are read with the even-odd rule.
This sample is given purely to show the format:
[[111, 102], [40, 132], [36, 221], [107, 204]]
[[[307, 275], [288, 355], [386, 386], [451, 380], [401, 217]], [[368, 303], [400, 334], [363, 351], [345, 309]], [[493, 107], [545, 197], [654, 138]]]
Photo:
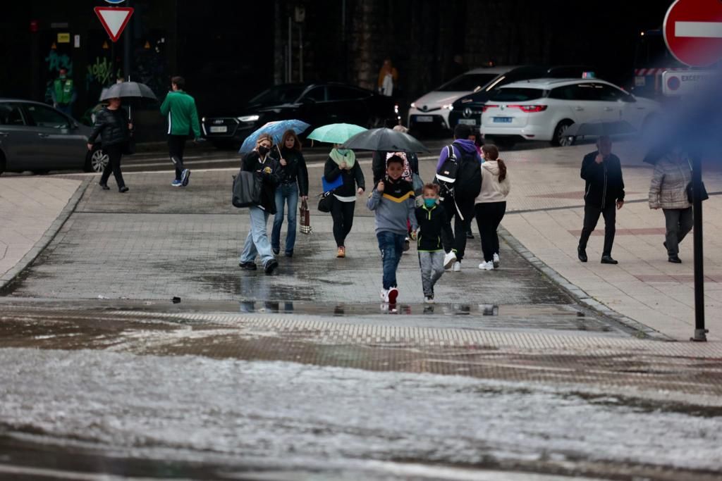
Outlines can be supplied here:
[[484, 103], [489, 100], [489, 94], [493, 89], [498, 89], [515, 81], [531, 80], [531, 79], [566, 79], [570, 77], [582, 78], [585, 72], [594, 72], [596, 69], [592, 66], [582, 65], [565, 65], [565, 66], [541, 66], [527, 65], [511, 69], [504, 74], [500, 74], [489, 84], [482, 87], [472, 94], [464, 95], [453, 104], [449, 112], [448, 125], [451, 130], [459, 123], [471, 125], [471, 127], [479, 128], [479, 119], [482, 116]]

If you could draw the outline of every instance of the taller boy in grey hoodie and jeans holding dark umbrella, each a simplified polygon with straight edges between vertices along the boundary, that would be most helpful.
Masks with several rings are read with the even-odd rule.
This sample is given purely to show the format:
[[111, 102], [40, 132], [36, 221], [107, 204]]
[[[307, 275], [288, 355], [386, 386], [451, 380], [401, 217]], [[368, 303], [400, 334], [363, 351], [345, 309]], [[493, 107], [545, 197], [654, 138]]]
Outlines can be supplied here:
[[401, 179], [404, 160], [392, 156], [386, 161], [386, 179], [380, 180], [371, 193], [366, 206], [375, 211], [376, 238], [383, 259], [383, 288], [381, 299], [396, 304], [399, 288], [396, 285], [396, 268], [404, 252], [406, 221], [411, 222], [412, 239], [416, 239], [419, 224], [416, 221], [416, 200], [411, 182]]

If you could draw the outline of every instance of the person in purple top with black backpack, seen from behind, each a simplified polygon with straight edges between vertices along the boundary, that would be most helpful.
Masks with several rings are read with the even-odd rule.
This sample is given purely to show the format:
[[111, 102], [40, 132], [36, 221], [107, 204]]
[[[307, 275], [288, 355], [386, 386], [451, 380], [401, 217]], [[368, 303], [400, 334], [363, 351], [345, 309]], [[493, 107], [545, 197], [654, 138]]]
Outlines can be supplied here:
[[482, 190], [482, 158], [469, 125], [456, 125], [453, 136], [453, 144], [441, 149], [435, 182], [440, 186], [439, 198], [449, 224], [456, 218], [453, 250], [446, 253], [444, 268], [451, 267], [453, 272], [459, 272], [466, 250], [466, 231], [474, 216], [474, 200]]

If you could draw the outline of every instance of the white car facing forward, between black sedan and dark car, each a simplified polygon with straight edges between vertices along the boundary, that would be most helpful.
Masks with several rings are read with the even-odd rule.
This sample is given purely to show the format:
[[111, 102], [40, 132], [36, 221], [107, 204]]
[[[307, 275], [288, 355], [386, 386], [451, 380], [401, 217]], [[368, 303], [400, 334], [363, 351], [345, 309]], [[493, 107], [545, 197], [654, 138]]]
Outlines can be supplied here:
[[451, 128], [449, 112], [451, 112], [453, 102], [464, 95], [479, 92], [514, 68], [509, 66], [482, 67], [471, 69], [454, 77], [409, 105], [407, 125], [413, 131], [420, 133], [435, 133]]

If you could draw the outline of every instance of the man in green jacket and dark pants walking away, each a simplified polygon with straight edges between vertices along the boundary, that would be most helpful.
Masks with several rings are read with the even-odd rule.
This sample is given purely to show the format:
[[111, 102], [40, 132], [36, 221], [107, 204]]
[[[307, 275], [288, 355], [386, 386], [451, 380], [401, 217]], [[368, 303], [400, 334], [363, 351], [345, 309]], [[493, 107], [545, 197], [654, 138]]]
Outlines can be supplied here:
[[197, 141], [201, 137], [196, 101], [183, 91], [184, 87], [186, 79], [183, 77], [174, 76], [170, 79], [171, 91], [160, 106], [160, 113], [168, 117], [168, 151], [175, 165], [175, 180], [170, 184], [173, 187], [186, 187], [191, 177], [191, 171], [183, 168], [186, 138], [193, 136]]

